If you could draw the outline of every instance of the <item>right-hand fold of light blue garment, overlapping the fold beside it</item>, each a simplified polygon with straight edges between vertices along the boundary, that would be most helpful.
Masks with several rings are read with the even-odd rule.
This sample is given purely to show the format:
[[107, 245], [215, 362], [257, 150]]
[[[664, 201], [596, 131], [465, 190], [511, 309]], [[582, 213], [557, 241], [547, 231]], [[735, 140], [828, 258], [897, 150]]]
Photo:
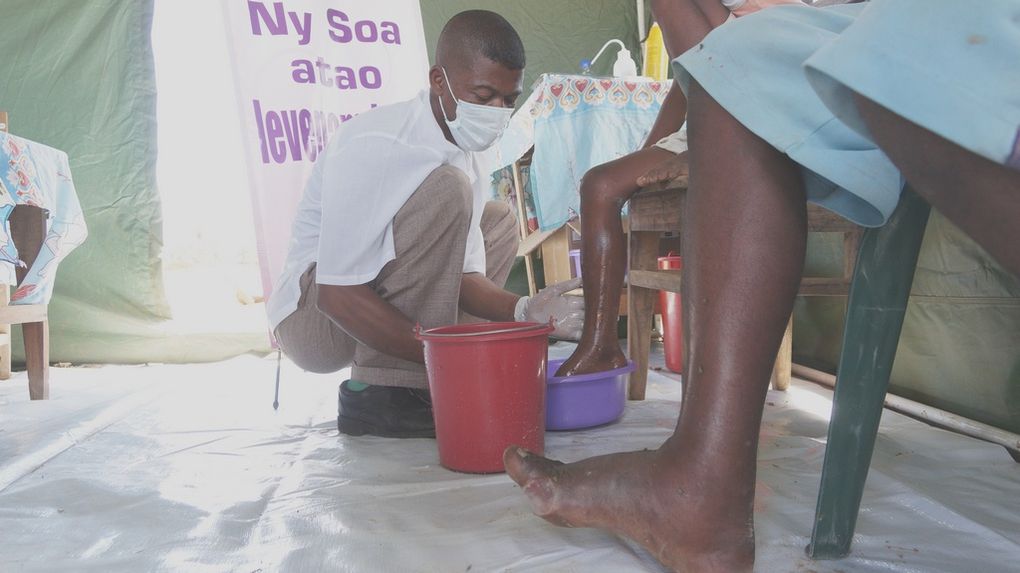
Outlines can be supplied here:
[[865, 136], [857, 92], [1020, 169], [1020, 2], [873, 0], [805, 64], [833, 113]]

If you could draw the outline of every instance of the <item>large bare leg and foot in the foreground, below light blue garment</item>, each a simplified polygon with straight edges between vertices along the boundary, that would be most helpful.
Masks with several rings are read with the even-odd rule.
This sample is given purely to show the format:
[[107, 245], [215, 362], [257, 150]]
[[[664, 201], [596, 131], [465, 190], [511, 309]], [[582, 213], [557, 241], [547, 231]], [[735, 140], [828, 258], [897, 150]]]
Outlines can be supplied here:
[[659, 450], [564, 465], [511, 448], [507, 471], [536, 513], [600, 527], [686, 572], [751, 571], [762, 405], [804, 263], [793, 162], [700, 86], [691, 90], [684, 225], [686, 396]]

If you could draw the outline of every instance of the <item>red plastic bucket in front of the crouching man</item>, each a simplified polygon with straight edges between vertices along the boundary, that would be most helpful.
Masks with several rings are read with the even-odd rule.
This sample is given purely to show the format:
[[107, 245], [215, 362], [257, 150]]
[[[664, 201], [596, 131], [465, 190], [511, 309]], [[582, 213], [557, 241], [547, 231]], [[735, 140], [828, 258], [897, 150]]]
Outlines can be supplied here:
[[501, 472], [508, 446], [545, 451], [552, 331], [551, 325], [536, 322], [491, 322], [418, 333], [443, 466]]

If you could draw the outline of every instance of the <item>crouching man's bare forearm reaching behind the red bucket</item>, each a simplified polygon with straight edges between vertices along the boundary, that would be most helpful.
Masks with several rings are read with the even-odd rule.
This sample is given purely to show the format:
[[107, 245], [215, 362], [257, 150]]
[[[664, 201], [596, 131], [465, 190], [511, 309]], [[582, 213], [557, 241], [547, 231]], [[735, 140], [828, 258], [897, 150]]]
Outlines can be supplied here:
[[319, 284], [318, 309], [359, 343], [384, 354], [424, 363], [414, 323], [365, 284]]

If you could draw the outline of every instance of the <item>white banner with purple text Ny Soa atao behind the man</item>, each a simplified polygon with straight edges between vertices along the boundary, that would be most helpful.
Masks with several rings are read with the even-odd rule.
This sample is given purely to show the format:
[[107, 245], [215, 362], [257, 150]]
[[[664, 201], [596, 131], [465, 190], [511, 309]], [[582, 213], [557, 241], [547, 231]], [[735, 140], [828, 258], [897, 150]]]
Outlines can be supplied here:
[[359, 112], [426, 86], [421, 8], [418, 0], [221, 3], [268, 297], [305, 179], [329, 137]]

